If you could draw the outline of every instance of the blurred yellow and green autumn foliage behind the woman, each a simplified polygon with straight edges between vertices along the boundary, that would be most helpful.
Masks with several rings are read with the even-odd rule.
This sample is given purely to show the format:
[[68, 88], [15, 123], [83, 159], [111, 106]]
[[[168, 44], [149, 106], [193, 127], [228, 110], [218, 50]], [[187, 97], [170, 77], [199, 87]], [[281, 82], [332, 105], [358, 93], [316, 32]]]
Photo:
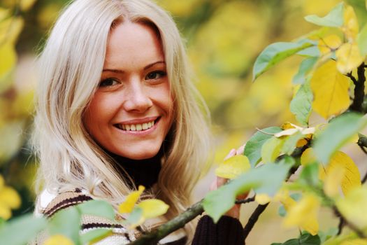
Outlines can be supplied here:
[[[0, 0], [0, 174], [21, 197], [13, 217], [34, 207], [36, 160], [29, 138], [34, 115], [36, 56], [65, 0]], [[252, 83], [252, 64], [266, 45], [292, 41], [317, 29], [303, 16], [325, 15], [339, 0], [157, 0], [178, 24], [187, 45], [195, 83], [208, 103], [215, 160], [245, 143], [256, 130], [295, 122], [289, 111], [292, 76], [297, 58], [275, 66]], [[365, 1], [354, 6], [360, 23], [367, 20]], [[316, 117], [317, 118], [317, 117]], [[358, 156], [356, 157], [358, 158]], [[208, 186], [204, 181], [202, 186]], [[200, 190], [205, 190], [201, 188]], [[199, 194], [200, 195], [200, 194]], [[1, 193], [0, 193], [1, 199]], [[254, 205], [243, 207], [245, 223]], [[335, 223], [322, 213], [322, 228]], [[247, 239], [247, 244], [270, 244], [296, 237], [283, 230], [278, 207], [271, 205]]]

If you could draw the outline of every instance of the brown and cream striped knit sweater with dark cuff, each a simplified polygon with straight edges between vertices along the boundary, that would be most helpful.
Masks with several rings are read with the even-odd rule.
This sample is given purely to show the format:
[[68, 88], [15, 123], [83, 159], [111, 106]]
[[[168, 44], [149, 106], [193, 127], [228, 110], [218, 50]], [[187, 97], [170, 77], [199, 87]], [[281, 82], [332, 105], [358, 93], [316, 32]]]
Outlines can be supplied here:
[[[80, 190], [75, 190], [66, 193], [59, 193], [58, 195], [51, 195], [50, 193], [43, 192], [41, 195], [41, 214], [48, 218], [52, 218], [57, 211], [67, 209], [77, 204], [92, 200], [92, 197], [83, 193]], [[117, 220], [121, 219], [117, 215]], [[157, 228], [161, 223], [155, 223], [152, 229]], [[96, 245], [123, 245], [129, 244], [130, 241], [134, 241], [141, 236], [141, 232], [138, 230], [128, 230], [121, 224], [110, 221], [106, 218], [96, 216], [82, 216], [81, 221], [81, 233], [89, 232], [90, 230], [106, 228], [112, 231], [112, 235], [103, 238], [101, 241], [95, 243]], [[38, 236], [36, 244], [43, 244], [46, 234]], [[184, 230], [177, 230], [168, 237], [161, 239], [159, 244], [164, 245], [186, 245], [187, 237]], [[220, 221], [215, 224], [209, 216], [201, 217], [192, 245], [243, 245], [243, 227], [240, 222], [229, 216], [223, 216]]]

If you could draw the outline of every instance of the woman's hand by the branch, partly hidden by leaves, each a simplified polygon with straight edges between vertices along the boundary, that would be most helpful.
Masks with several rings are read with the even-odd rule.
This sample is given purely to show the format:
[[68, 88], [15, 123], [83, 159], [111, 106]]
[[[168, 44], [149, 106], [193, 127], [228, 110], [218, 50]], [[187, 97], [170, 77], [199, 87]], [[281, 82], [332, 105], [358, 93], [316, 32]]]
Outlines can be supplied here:
[[[234, 155], [242, 155], [244, 149], [245, 149], [245, 145], [241, 146], [237, 150], [233, 148], [229, 152], [229, 154], [226, 155], [226, 158], [224, 158], [224, 160], [227, 160], [227, 159], [233, 157]], [[211, 184], [210, 190], [217, 190], [217, 188], [219, 188], [220, 186], [223, 186], [227, 181], [228, 181], [228, 179], [217, 177], [216, 181], [213, 181], [213, 183]], [[247, 197], [247, 195], [248, 195], [248, 193], [238, 195], [236, 197], [236, 199], [245, 199]], [[234, 204], [233, 207], [231, 209], [229, 209], [229, 211], [227, 211], [226, 214], [224, 214], [224, 215], [225, 216], [230, 216], [232, 218], [240, 218], [240, 204]]]

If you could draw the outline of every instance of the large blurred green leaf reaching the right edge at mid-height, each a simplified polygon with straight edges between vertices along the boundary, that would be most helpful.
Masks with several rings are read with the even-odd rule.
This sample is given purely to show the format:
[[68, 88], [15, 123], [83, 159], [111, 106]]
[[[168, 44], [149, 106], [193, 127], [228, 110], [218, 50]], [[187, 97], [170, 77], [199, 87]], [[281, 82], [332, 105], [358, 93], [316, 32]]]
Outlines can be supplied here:
[[333, 153], [344, 146], [354, 134], [364, 129], [366, 125], [367, 118], [362, 118], [357, 113], [345, 113], [331, 120], [326, 129], [315, 139], [313, 148], [317, 159], [324, 164], [328, 163]]

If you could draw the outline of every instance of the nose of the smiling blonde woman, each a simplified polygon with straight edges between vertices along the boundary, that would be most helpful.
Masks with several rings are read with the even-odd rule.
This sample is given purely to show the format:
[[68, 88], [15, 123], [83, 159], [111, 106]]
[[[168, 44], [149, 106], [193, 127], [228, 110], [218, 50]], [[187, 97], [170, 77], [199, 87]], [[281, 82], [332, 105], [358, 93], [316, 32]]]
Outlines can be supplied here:
[[149, 96], [149, 88], [145, 87], [141, 80], [133, 80], [129, 83], [125, 95], [124, 109], [143, 113], [152, 107], [153, 103]]

